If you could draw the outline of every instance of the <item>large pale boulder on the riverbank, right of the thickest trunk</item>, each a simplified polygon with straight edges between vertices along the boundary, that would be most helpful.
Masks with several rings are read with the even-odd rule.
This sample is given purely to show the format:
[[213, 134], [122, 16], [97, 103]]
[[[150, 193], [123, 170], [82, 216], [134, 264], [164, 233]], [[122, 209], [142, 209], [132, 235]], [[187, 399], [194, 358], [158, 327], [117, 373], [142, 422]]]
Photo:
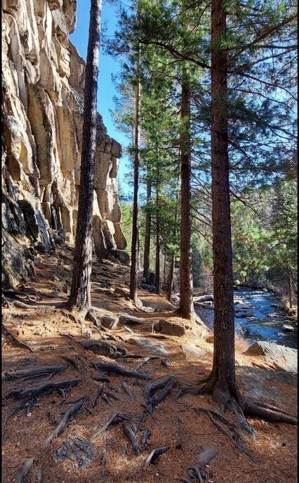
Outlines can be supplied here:
[[272, 342], [258, 341], [244, 352], [246, 355], [260, 355], [265, 362], [278, 371], [298, 371], [298, 350], [284, 347]]

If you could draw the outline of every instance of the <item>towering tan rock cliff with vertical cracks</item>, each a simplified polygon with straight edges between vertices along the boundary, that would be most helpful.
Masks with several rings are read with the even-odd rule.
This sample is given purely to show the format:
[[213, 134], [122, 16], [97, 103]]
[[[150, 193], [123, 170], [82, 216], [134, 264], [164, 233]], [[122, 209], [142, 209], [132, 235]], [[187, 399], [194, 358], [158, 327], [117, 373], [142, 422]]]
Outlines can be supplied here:
[[[2, 0], [2, 281], [34, 271], [34, 249], [74, 242], [85, 62], [69, 41], [76, 0]], [[121, 258], [121, 145], [98, 114], [95, 253]], [[34, 247], [34, 249], [32, 249]]]

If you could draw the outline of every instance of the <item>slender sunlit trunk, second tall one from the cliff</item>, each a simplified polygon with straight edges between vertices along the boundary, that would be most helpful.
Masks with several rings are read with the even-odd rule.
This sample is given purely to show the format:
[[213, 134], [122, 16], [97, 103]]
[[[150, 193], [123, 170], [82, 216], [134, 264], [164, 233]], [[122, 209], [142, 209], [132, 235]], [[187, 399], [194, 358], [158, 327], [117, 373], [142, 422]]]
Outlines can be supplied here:
[[[138, 14], [137, 14], [138, 15]], [[134, 139], [134, 194], [132, 220], [132, 251], [130, 273], [130, 298], [138, 301], [138, 185], [139, 185], [139, 141], [140, 141], [140, 44], [138, 42], [135, 77], [135, 139]]]

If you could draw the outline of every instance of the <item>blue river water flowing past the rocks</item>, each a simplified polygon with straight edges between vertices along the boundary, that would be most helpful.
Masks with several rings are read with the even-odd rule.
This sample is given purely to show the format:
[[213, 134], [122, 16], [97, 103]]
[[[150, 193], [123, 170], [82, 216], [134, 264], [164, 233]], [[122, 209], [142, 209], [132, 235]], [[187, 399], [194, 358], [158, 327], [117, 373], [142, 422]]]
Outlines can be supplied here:
[[[241, 303], [238, 303], [238, 302]], [[263, 290], [239, 289], [234, 291], [236, 315], [238, 312], [253, 313], [252, 317], [235, 317], [236, 333], [242, 333], [250, 342], [256, 340], [275, 341], [277, 344], [297, 349], [298, 330], [293, 332], [282, 330], [284, 324], [290, 324], [286, 312], [279, 299], [273, 293]], [[237, 302], [237, 303], [236, 303]], [[272, 307], [272, 305], [277, 305]], [[195, 306], [201, 320], [211, 329], [213, 328], [213, 310]], [[268, 317], [267, 317], [268, 316]]]

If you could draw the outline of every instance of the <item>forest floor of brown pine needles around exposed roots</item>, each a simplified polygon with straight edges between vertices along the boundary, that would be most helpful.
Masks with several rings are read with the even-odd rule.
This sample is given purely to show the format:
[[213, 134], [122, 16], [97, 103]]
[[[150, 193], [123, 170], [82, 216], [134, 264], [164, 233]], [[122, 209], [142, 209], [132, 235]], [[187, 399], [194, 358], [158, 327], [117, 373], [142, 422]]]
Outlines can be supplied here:
[[[92, 305], [101, 314], [117, 316], [119, 312], [131, 314], [142, 324], [106, 329], [106, 340], [126, 349], [127, 357], [109, 359], [86, 350], [81, 341], [102, 338], [92, 322], [81, 322], [72, 317], [62, 304], [67, 301], [72, 278], [73, 248], [63, 246], [56, 253], [39, 255], [35, 280], [18, 286], [19, 296], [3, 309], [2, 321], [6, 329], [24, 344], [18, 346], [11, 336], [2, 336], [2, 481], [4, 483], [172, 483], [187, 477], [187, 468], [197, 463], [197, 455], [213, 446], [217, 456], [206, 468], [206, 482], [241, 483], [294, 483], [297, 481], [297, 428], [284, 424], [267, 423], [249, 419], [258, 432], [256, 437], [244, 437], [246, 448], [255, 457], [252, 461], [233, 446], [230, 439], [220, 432], [206, 413], [194, 411], [205, 406], [219, 411], [210, 396], [186, 395], [178, 402], [175, 395], [180, 384], [199, 381], [211, 370], [213, 344], [208, 343], [208, 331], [199, 325], [188, 326], [187, 321], [175, 316], [174, 307], [165, 296], [140, 291], [145, 308], [136, 309], [122, 290], [128, 291], [129, 268], [109, 261], [94, 260], [92, 277]], [[117, 293], [119, 292], [119, 293]], [[167, 319], [173, 324], [185, 326], [183, 336], [167, 336], [152, 333], [153, 322]], [[187, 326], [187, 328], [186, 328]], [[143, 340], [143, 342], [142, 342]], [[140, 343], [150, 341], [151, 348]], [[246, 341], [237, 341], [237, 381], [242, 392], [252, 397], [277, 404], [293, 414], [297, 411], [297, 379], [291, 373], [274, 371], [260, 357], [244, 355]], [[158, 352], [157, 352], [158, 351]], [[144, 359], [157, 355], [156, 359]], [[130, 358], [129, 355], [138, 357]], [[37, 366], [69, 365], [61, 373], [39, 378], [6, 380], [6, 373]], [[158, 404], [152, 413], [145, 411], [144, 391], [149, 381], [126, 376], [109, 376], [108, 382], [97, 382], [94, 376], [103, 375], [93, 362], [109, 362], [134, 370], [144, 362], [140, 372], [154, 380], [173, 375], [178, 383], [171, 394]], [[36, 398], [16, 399], [25, 390], [48, 381], [55, 383], [79, 379], [77, 386], [51, 394], [39, 394]], [[122, 383], [133, 393], [133, 402], [124, 391]], [[58, 385], [59, 386], [59, 385]], [[102, 388], [102, 396], [95, 397]], [[14, 397], [6, 397], [15, 390]], [[118, 399], [110, 397], [115, 395]], [[106, 396], [105, 396], [106, 395]], [[45, 448], [44, 442], [60, 423], [63, 414], [76, 399], [86, 397], [83, 406], [69, 418], [58, 437]], [[27, 400], [27, 405], [23, 404]], [[138, 423], [138, 415], [145, 414], [137, 431], [141, 446], [140, 456], [133, 454], [131, 444], [124, 435], [123, 424], [112, 425], [92, 440], [95, 459], [87, 468], [77, 466], [76, 461], [62, 458], [57, 461], [57, 450], [70, 435], [91, 439], [91, 436], [116, 412], [129, 413], [131, 423]], [[226, 415], [232, 420], [230, 414]], [[142, 431], [151, 434], [146, 444], [141, 444]], [[145, 458], [158, 446], [169, 449], [155, 464], [146, 465]], [[19, 470], [27, 458], [34, 458], [27, 477]], [[92, 458], [91, 458], [92, 459]], [[28, 460], [31, 463], [32, 460]], [[23, 473], [25, 475], [26, 471]], [[185, 480], [187, 481], [187, 480]], [[194, 482], [194, 479], [189, 481]]]

